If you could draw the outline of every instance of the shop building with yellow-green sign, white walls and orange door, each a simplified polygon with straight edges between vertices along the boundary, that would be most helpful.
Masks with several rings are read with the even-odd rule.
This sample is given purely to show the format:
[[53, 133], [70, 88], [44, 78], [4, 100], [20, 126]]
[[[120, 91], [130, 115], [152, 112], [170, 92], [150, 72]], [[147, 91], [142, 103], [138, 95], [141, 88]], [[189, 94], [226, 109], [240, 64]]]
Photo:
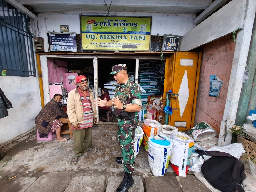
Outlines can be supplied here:
[[[246, 59], [242, 58], [247, 58], [249, 52], [255, 2], [232, 0], [217, 4], [220, 1], [188, 0], [184, 4], [176, 1], [132, 1], [119, 4], [113, 0], [105, 1], [106, 4], [88, 1], [86, 5], [83, 1], [67, 1], [67, 4], [64, 4], [65, 1], [6, 2], [27, 13], [31, 35], [41, 38], [34, 38], [33, 44], [30, 44], [35, 51], [28, 59], [35, 66], [32, 75], [24, 77], [7, 73], [7, 76], [0, 77], [1, 88], [7, 90], [9, 100], [22, 96], [15, 108], [10, 110], [10, 115], [0, 119], [1, 124], [10, 126], [12, 132], [12, 136], [5, 133], [6, 137], [0, 143], [34, 126], [34, 117], [51, 99], [49, 83], [63, 82], [68, 92], [72, 82], [68, 83], [66, 76], [85, 74], [91, 88], [96, 90], [97, 97], [98, 88], [103, 88], [111, 78], [108, 76], [111, 66], [121, 63], [127, 64], [134, 81], [139, 83], [143, 64], [150, 63], [150, 67], [153, 66], [147, 68], [150, 72], [165, 64], [163, 97], [166, 98], [165, 92], [169, 90], [179, 94], [177, 100], [171, 99], [170, 106], [178, 106], [179, 110], [170, 116], [169, 124], [186, 130], [206, 120], [218, 131], [220, 138], [227, 135], [225, 130], [234, 125], [246, 66]], [[2, 7], [6, 7], [5, 4], [2, 3]], [[203, 13], [204, 10], [206, 13]], [[200, 11], [201, 14], [198, 13]], [[133, 22], [127, 24], [129, 19]], [[140, 22], [146, 22], [147, 19], [149, 23], [146, 26]], [[5, 23], [8, 22], [6, 20]], [[134, 23], [137, 23], [136, 26]], [[5, 27], [8, 28], [7, 24]], [[123, 33], [116, 35], [113, 27], [122, 27]], [[101, 33], [102, 28], [105, 31]], [[125, 36], [128, 28], [130, 34]], [[132, 30], [138, 32], [140, 28], [140, 33], [132, 33]], [[232, 37], [234, 31], [237, 31], [234, 37], [236, 43]], [[75, 51], [65, 50], [65, 46], [61, 46], [64, 51], [60, 50], [60, 46], [57, 48], [60, 41], [53, 41], [52, 36], [66, 38], [63, 34], [75, 34]], [[172, 47], [177, 42], [171, 42], [170, 38], [166, 42], [168, 36], [180, 37], [176, 50]], [[140, 47], [142, 42], [146, 42], [147, 46]], [[172, 51], [165, 50], [165, 43]], [[11, 49], [9, 52], [12, 52]], [[3, 65], [0, 67], [4, 68]], [[219, 97], [209, 97], [211, 75], [223, 80]], [[19, 87], [17, 93], [13, 82]], [[24, 119], [26, 125], [20, 125]], [[19, 127], [19, 131], [14, 127]], [[230, 143], [229, 134], [227, 138], [225, 141], [219, 139], [220, 145]]]

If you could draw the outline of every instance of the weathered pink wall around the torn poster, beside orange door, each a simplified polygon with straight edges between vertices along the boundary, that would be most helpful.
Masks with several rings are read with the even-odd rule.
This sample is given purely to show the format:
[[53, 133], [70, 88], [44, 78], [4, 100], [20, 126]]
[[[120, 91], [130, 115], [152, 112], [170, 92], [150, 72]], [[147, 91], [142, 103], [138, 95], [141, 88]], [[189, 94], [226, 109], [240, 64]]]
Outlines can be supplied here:
[[[219, 135], [227, 98], [235, 42], [232, 35], [228, 35], [201, 48], [203, 55], [194, 126], [202, 121], [207, 121]], [[210, 75], [217, 75], [223, 80], [219, 98], [209, 96]]]

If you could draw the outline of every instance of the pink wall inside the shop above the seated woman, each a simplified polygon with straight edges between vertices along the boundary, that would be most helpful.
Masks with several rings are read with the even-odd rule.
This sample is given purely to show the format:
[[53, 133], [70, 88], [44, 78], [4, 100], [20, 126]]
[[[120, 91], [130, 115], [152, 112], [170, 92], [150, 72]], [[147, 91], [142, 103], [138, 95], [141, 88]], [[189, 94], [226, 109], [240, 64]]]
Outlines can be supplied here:
[[[68, 64], [64, 61], [60, 61], [55, 59], [55, 63], [57, 63], [57, 67], [54, 68], [53, 66], [54, 59], [53, 58], [48, 58], [47, 60], [47, 65], [48, 65], [48, 79], [50, 83], [60, 83], [64, 82], [63, 87], [66, 88], [66, 83], [65, 83], [65, 72], [68, 72], [68, 68], [63, 68], [63, 67], [68, 67]], [[63, 67], [58, 67], [58, 66], [63, 66]], [[61, 76], [63, 77], [63, 80], [61, 81]]]

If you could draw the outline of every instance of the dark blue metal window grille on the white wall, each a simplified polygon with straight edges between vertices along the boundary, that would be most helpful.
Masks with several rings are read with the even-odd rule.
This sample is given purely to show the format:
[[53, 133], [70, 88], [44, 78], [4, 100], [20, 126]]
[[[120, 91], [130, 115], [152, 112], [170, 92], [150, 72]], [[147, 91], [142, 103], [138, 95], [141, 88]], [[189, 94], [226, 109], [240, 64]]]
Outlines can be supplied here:
[[0, 70], [7, 75], [36, 76], [30, 18], [0, 0]]

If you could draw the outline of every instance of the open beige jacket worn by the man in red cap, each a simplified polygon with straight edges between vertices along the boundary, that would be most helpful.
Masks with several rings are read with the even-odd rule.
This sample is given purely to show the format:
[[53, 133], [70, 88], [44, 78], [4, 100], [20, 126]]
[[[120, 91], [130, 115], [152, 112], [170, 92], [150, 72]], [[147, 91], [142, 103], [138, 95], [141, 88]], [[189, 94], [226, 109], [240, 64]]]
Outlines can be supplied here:
[[[93, 92], [90, 89], [87, 89], [87, 91], [89, 92], [90, 101], [92, 102], [92, 115], [93, 115], [93, 121], [95, 121], [96, 106], [94, 104]], [[78, 93], [77, 87], [68, 93], [67, 114], [68, 114], [69, 121], [70, 123], [72, 123], [72, 125], [76, 125], [78, 123], [84, 123], [83, 107], [82, 107], [82, 102], [80, 100], [80, 95]]]

